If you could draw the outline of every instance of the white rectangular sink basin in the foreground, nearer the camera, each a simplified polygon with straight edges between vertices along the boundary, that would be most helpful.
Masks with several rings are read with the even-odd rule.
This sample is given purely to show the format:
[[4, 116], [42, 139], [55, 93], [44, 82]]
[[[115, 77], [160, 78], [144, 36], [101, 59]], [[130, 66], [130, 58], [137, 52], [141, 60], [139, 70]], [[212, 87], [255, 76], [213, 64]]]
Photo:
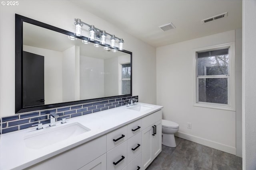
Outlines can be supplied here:
[[36, 133], [25, 136], [24, 142], [28, 148], [41, 149], [88, 131], [90, 131], [90, 129], [75, 122], [67, 125], [60, 125], [60, 127], [52, 129], [49, 127], [47, 130], [38, 130]]

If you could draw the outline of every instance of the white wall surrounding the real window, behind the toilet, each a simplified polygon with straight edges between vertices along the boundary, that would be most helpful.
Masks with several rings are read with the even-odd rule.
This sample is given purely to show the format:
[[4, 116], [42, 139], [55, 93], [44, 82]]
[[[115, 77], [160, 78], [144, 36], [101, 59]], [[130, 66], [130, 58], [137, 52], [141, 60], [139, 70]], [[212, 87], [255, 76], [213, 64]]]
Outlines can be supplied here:
[[193, 101], [194, 49], [234, 41], [232, 30], [156, 49], [157, 104], [164, 106], [164, 119], [180, 125], [177, 136], [232, 154], [236, 154], [236, 112], [196, 107]]

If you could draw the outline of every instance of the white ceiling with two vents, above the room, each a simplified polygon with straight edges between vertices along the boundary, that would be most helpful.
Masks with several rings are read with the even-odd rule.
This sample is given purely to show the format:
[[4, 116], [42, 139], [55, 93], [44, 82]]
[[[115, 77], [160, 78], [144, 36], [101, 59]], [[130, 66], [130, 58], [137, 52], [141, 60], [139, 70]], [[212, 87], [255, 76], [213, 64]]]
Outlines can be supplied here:
[[[70, 2], [153, 47], [242, 28], [242, 0], [72, 0]], [[227, 18], [209, 23], [201, 22], [224, 12], [228, 12]], [[170, 22], [175, 25], [175, 29], [162, 31], [159, 28], [160, 25]]]

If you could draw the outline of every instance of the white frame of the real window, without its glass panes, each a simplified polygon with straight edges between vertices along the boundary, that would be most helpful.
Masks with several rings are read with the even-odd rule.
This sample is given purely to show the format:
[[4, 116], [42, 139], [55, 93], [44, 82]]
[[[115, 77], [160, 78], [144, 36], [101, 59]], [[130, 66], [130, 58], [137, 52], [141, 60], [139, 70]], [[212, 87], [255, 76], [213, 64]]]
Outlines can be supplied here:
[[[198, 52], [206, 52], [206, 51], [214, 51], [220, 49], [228, 48], [228, 70], [229, 75], [213, 75], [211, 77], [214, 78], [228, 78], [228, 104], [218, 104], [218, 103], [210, 103], [210, 102], [199, 102], [198, 100], [198, 66], [197, 66], [197, 53]], [[194, 104], [193, 106], [198, 107], [208, 107], [213, 109], [223, 109], [223, 110], [231, 110], [236, 111], [236, 91], [235, 91], [235, 43], [224, 43], [220, 45], [213, 45], [208, 47], [202, 47], [194, 49]], [[209, 76], [210, 77], [210, 76]]]

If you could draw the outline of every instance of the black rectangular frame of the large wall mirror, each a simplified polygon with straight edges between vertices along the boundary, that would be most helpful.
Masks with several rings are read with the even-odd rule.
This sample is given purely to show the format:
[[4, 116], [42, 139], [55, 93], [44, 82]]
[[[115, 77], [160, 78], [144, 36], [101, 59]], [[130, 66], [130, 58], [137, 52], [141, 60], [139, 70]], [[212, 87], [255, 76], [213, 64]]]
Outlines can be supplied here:
[[[40, 21], [36, 21], [18, 14], [15, 14], [15, 113], [24, 113], [29, 111], [51, 109], [55, 107], [85, 104], [85, 103], [97, 102], [101, 100], [110, 100], [114, 98], [132, 96], [132, 52], [122, 50], [122, 52], [130, 54], [131, 56], [131, 59], [130, 59], [131, 60], [131, 94], [110, 96], [110, 97], [104, 97], [104, 98], [95, 98], [95, 99], [88, 99], [88, 100], [78, 100], [73, 102], [64, 102], [64, 103], [57, 103], [57, 104], [47, 104], [47, 105], [41, 105], [41, 106], [23, 107], [23, 97], [22, 97], [23, 96], [23, 90], [22, 90], [23, 89], [22, 87], [22, 84], [23, 84], [22, 83], [23, 22], [31, 23], [33, 25], [44, 27], [52, 31], [57, 31], [59, 33], [70, 35], [78, 39], [84, 39], [86, 41], [90, 41], [88, 37], [84, 37], [84, 36], [77, 37], [76, 35], [74, 35], [74, 33], [66, 31], [64, 29], [60, 29], [58, 27], [54, 27], [52, 25], [48, 25], [46, 23], [42, 23]], [[90, 41], [90, 42], [101, 45], [99, 41]], [[110, 47], [110, 45], [107, 45], [107, 44], [102, 46]], [[117, 47], [115, 47], [114, 49], [118, 50]]]

